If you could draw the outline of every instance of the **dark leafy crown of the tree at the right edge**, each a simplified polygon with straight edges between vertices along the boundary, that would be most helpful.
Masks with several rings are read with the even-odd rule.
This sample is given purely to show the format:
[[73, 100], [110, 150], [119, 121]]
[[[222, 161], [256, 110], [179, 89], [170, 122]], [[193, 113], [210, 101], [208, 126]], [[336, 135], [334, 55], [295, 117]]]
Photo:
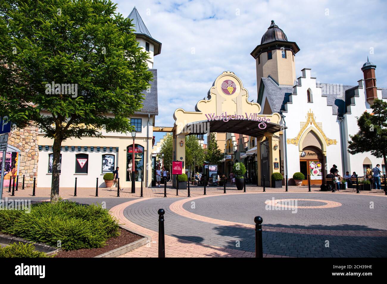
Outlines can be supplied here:
[[382, 158], [387, 165], [387, 102], [376, 99], [371, 105], [372, 113], [363, 112], [357, 117], [359, 131], [349, 135], [348, 152], [350, 154], [371, 152], [377, 158]]

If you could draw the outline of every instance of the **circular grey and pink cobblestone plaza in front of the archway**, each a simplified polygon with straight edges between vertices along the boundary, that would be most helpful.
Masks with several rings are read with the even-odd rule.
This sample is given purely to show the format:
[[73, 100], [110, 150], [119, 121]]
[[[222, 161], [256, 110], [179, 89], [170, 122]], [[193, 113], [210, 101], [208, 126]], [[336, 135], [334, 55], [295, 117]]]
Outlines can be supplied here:
[[[297, 213], [265, 210], [265, 201], [272, 198], [297, 199], [300, 208]], [[330, 203], [336, 203], [336, 207], [325, 207]], [[167, 256], [252, 257], [253, 218], [260, 215], [267, 257], [387, 257], [384, 196], [317, 192], [229, 192], [120, 204], [112, 208], [113, 214], [155, 241], [123, 257], [157, 256], [159, 208], [166, 211]]]

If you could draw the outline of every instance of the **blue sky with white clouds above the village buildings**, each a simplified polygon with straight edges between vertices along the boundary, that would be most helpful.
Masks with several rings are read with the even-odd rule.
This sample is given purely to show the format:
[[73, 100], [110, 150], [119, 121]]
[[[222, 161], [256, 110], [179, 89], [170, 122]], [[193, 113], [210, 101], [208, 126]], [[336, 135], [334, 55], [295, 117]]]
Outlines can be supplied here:
[[[386, 1], [113, 0], [127, 17], [136, 6], [151, 36], [162, 43], [156, 126], [173, 126], [173, 112], [194, 111], [223, 71], [241, 78], [257, 99], [255, 60], [250, 55], [274, 20], [295, 56], [296, 77], [312, 68], [317, 82], [357, 85], [361, 66], [377, 65], [377, 87], [387, 87]], [[163, 133], [155, 133], [156, 142]]]

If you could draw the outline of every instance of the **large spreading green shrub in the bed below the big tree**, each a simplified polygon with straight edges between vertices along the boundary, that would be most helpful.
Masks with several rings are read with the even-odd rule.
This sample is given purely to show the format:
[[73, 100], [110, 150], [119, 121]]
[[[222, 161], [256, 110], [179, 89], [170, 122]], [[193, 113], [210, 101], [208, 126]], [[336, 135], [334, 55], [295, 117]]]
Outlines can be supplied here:
[[0, 210], [0, 231], [55, 247], [61, 241], [65, 250], [103, 247], [119, 235], [118, 226], [107, 209], [94, 204], [59, 201], [35, 204], [31, 213]]

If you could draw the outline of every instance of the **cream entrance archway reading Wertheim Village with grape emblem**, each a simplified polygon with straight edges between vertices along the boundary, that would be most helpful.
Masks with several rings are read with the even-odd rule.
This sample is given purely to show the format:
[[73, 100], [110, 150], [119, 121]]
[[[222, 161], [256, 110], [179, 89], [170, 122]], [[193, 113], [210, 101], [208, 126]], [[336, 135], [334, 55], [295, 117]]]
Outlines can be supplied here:
[[[210, 88], [207, 99], [197, 102], [195, 111], [176, 109], [173, 114], [173, 159], [185, 162], [185, 136], [190, 134], [209, 134], [210, 132], [229, 132], [257, 137], [257, 143], [269, 139], [270, 174], [279, 172], [274, 169], [274, 159], [279, 161], [278, 134], [283, 130], [279, 125], [281, 116], [260, 114], [261, 106], [250, 102], [248, 91], [233, 72], [224, 71]], [[257, 147], [257, 157], [260, 157]], [[274, 149], [277, 148], [277, 149]], [[183, 163], [184, 167], [184, 163]], [[258, 163], [260, 173], [260, 163]], [[260, 175], [260, 174], [259, 174]], [[266, 180], [270, 177], [265, 177]]]

